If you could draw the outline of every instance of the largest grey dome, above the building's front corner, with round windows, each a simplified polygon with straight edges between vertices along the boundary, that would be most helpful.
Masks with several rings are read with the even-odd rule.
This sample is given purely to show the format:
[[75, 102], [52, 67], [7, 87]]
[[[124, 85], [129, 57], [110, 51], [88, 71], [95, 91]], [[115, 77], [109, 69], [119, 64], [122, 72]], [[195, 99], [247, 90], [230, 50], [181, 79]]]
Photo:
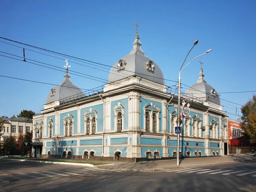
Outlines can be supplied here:
[[122, 57], [112, 67], [108, 77], [109, 83], [136, 75], [164, 85], [162, 70], [157, 63], [145, 56], [140, 48], [141, 45], [139, 35], [137, 34], [133, 43], [134, 48], [130, 54]]

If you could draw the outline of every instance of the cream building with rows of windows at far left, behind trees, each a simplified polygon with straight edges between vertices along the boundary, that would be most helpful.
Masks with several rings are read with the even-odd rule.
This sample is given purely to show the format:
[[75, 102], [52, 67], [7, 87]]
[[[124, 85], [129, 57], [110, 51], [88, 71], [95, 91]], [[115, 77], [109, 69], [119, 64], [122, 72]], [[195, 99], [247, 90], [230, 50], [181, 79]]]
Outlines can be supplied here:
[[32, 119], [26, 117], [2, 118], [3, 119], [3, 135], [1, 141], [9, 136], [18, 136], [20, 133], [32, 131]]

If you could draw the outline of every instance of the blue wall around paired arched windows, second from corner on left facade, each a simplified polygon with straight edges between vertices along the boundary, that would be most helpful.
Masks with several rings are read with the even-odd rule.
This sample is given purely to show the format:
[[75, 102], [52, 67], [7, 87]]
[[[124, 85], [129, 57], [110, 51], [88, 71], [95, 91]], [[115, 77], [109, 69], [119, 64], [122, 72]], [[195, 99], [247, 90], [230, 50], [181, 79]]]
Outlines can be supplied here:
[[103, 119], [104, 119], [104, 111], [103, 111], [103, 104], [95, 105], [86, 107], [80, 110], [80, 133], [84, 132], [84, 113], [89, 111], [90, 108], [97, 112], [97, 127], [96, 132], [103, 132]]

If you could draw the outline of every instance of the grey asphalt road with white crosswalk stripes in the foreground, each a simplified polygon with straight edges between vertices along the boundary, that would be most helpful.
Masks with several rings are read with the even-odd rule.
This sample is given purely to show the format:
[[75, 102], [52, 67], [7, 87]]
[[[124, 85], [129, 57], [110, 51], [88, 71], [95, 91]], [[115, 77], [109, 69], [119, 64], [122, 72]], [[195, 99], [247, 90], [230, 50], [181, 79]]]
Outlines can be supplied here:
[[170, 172], [114, 172], [85, 166], [0, 160], [0, 191], [255, 192], [256, 161]]

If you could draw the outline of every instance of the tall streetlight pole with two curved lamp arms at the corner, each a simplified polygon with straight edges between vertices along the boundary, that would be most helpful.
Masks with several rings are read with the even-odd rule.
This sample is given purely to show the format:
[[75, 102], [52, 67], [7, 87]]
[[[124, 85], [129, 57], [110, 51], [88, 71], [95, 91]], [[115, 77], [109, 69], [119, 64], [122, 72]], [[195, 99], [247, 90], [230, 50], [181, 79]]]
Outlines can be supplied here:
[[[198, 43], [198, 40], [196, 40], [195, 41], [195, 43], [194, 43], [194, 46], [196, 45]], [[194, 47], [193, 46], [193, 47]], [[193, 49], [193, 47], [190, 49], [190, 51]], [[189, 51], [189, 52], [190, 52]], [[201, 55], [198, 55], [197, 57], [195, 57], [194, 59], [192, 59], [188, 64], [186, 64], [186, 66], [188, 66], [193, 60], [195, 60], [196, 58], [198, 58], [198, 57], [201, 57], [202, 55], [204, 55], [204, 54], [207, 54], [207, 53], [209, 53], [209, 52], [211, 52], [212, 51], [212, 49], [209, 49], [207, 52], [205, 52], [205, 53], [203, 53], [203, 54], [201, 54]], [[189, 54], [189, 53], [188, 53]], [[188, 56], [188, 54], [187, 54], [187, 56]], [[186, 57], [187, 57], [186, 56]], [[184, 60], [184, 62], [183, 62], [183, 64], [185, 63], [185, 61], [186, 61], [186, 58], [185, 58], [185, 60]], [[183, 64], [182, 64], [182, 66], [180, 67], [180, 72], [183, 70], [183, 69], [185, 69], [186, 68], [186, 66], [185, 67], [183, 67]], [[182, 68], [183, 67], [183, 68]], [[179, 72], [179, 80], [178, 80], [178, 126], [180, 126], [180, 72]], [[177, 133], [177, 165], [179, 166], [180, 165], [180, 134], [179, 133]]]

